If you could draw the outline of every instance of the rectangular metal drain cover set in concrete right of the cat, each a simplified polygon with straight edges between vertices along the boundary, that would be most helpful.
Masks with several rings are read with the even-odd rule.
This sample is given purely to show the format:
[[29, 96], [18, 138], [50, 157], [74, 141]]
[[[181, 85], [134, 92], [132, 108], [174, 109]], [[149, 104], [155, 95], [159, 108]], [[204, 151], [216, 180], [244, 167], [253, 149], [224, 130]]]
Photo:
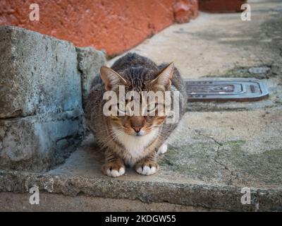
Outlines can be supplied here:
[[266, 85], [255, 78], [186, 80], [188, 101], [255, 101], [269, 95]]

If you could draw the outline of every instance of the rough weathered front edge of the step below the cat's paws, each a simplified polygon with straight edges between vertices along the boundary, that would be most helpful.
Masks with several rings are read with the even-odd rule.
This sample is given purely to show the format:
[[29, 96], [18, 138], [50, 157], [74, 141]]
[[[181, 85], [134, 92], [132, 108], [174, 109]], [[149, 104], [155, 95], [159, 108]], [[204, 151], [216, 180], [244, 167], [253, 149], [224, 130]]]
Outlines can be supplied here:
[[[251, 189], [252, 202], [242, 205], [240, 187], [212, 184], [131, 181], [60, 174], [0, 171], [0, 191], [27, 193], [32, 186], [65, 196], [138, 199], [145, 203], [168, 202], [185, 206], [235, 211], [281, 210], [281, 189]], [[257, 203], [260, 204], [259, 209]]]

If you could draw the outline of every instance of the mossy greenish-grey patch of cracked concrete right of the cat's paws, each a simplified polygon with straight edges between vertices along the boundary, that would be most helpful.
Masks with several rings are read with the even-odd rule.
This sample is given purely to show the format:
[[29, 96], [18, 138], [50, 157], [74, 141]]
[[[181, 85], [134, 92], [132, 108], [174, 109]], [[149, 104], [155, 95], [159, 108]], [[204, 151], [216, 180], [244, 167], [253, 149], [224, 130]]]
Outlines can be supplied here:
[[[168, 171], [183, 174], [191, 179], [215, 179], [226, 174], [237, 174], [240, 181], [282, 184], [282, 150], [265, 150], [248, 153], [247, 141], [193, 143], [179, 148], [168, 148], [159, 161]], [[226, 176], [227, 177], [227, 176]]]

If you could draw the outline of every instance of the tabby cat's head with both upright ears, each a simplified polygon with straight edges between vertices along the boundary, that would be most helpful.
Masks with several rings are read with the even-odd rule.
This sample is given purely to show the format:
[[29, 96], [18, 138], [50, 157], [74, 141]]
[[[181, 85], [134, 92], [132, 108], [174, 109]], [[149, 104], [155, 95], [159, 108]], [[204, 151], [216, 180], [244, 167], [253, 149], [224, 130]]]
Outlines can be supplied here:
[[[116, 93], [118, 97], [111, 108], [115, 108], [118, 113], [125, 113], [110, 115], [111, 126], [132, 136], [142, 136], [157, 130], [167, 117], [164, 111], [159, 110], [164, 109], [164, 100], [157, 98], [157, 96], [154, 97], [154, 100], [148, 100], [144, 93], [162, 93], [164, 95], [164, 92], [170, 89], [173, 69], [173, 63], [168, 64], [161, 71], [152, 71], [144, 67], [131, 67], [124, 71], [114, 71], [102, 66], [100, 73], [105, 90]], [[121, 87], [124, 88], [125, 93], [120, 92]], [[135, 94], [137, 93], [139, 97], [140, 109], [137, 110], [139, 114], [136, 114], [136, 111], [133, 114], [127, 114], [126, 108], [128, 108], [128, 102], [132, 99], [120, 98], [121, 95], [124, 96], [130, 91], [135, 91]], [[121, 99], [125, 102], [120, 101]], [[145, 100], [147, 102], [144, 104]]]

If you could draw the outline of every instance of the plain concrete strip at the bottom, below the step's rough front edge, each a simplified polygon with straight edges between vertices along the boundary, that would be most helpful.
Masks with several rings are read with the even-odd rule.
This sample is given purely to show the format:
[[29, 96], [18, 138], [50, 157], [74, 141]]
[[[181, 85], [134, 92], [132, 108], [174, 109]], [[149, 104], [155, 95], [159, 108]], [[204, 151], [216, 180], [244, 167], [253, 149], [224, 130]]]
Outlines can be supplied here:
[[[60, 194], [42, 193], [39, 205], [30, 205], [31, 194], [0, 193], [1, 211], [97, 211], [97, 212], [128, 212], [128, 211], [210, 211], [207, 208], [176, 205], [171, 203], [143, 203], [137, 200], [118, 198], [99, 198], [89, 196], [63, 196]], [[219, 210], [218, 210], [219, 211]]]

